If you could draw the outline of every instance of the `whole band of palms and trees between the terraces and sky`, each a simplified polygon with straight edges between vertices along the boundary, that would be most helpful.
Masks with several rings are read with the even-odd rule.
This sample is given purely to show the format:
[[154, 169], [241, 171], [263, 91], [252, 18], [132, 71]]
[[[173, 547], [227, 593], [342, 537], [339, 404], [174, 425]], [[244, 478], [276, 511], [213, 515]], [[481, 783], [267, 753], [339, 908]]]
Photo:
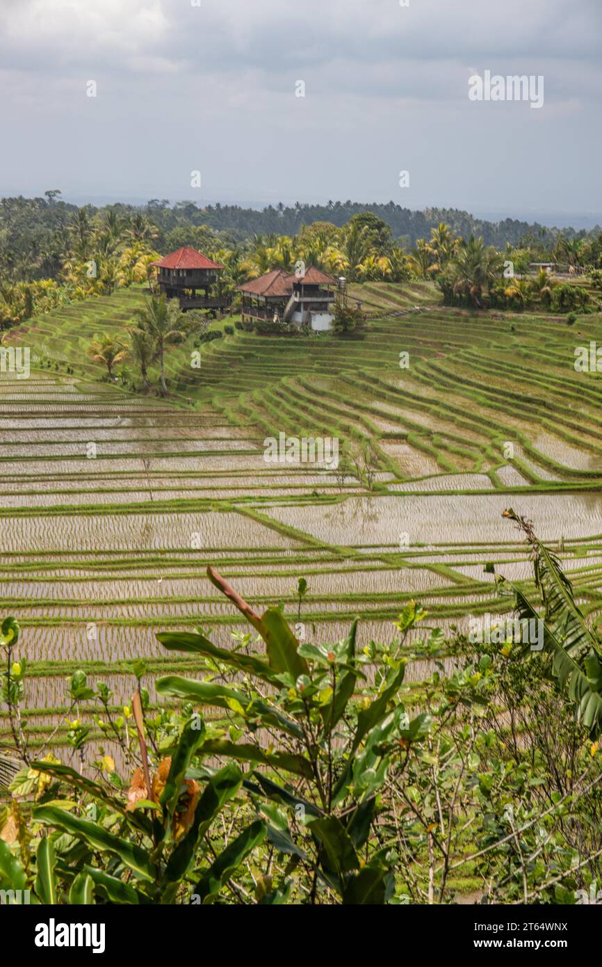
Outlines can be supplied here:
[[[212, 295], [232, 305], [244, 281], [272, 269], [291, 273], [300, 264], [351, 282], [430, 279], [440, 286], [446, 303], [473, 308], [528, 308], [533, 302], [560, 311], [588, 306], [586, 290], [560, 290], [545, 273], [534, 286], [527, 277], [538, 262], [554, 262], [574, 276], [587, 274], [594, 288], [601, 289], [602, 231], [571, 236], [535, 226], [533, 234], [526, 222], [493, 225], [464, 212], [413, 213], [392, 202], [374, 206], [376, 211], [330, 202], [326, 209], [280, 205], [253, 212], [220, 205], [199, 209], [192, 202], [170, 207], [166, 200], [155, 199], [143, 208], [119, 204], [99, 209], [68, 205], [59, 194], [47, 191], [45, 198], [5, 198], [1, 203], [0, 329], [60, 305], [110, 295], [124, 285], [150, 283], [153, 288], [152, 263], [159, 253], [182, 246], [199, 249], [224, 267]], [[323, 213], [324, 220], [316, 219]], [[414, 220], [413, 233], [422, 232], [416, 243], [391, 227], [398, 216]], [[252, 231], [259, 222], [241, 228], [241, 220], [255, 217], [268, 225], [275, 220], [277, 230]], [[287, 231], [291, 220], [296, 224]], [[216, 227], [229, 221], [237, 227]], [[482, 233], [475, 234], [474, 225]], [[500, 235], [497, 243], [488, 241], [492, 232]], [[518, 242], [509, 241], [514, 235]], [[597, 305], [596, 298], [592, 308]]]

